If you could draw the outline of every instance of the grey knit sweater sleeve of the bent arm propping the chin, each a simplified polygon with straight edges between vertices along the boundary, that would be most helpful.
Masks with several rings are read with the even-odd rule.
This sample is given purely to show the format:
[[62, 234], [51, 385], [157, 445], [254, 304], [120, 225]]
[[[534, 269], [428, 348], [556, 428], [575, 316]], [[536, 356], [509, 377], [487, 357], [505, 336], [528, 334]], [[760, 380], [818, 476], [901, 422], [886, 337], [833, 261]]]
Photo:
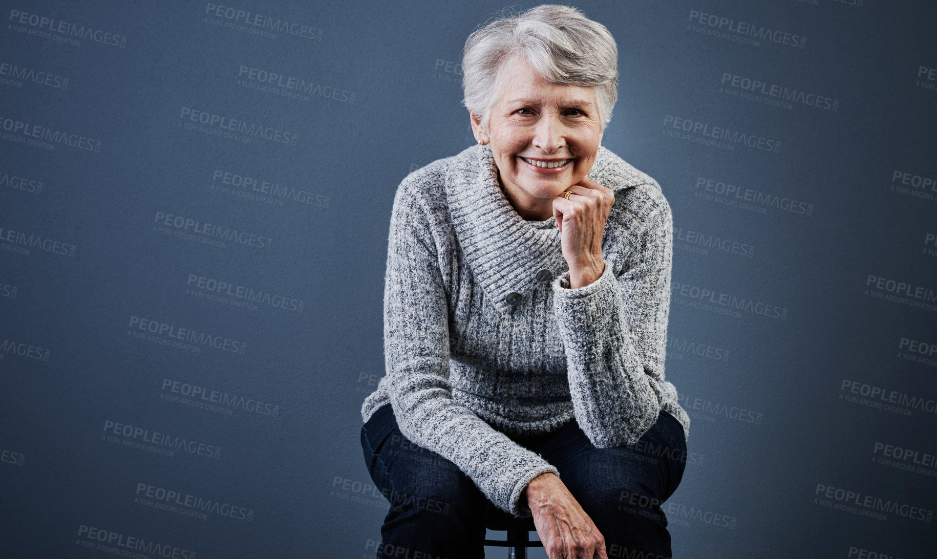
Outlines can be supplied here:
[[[643, 226], [643, 228], [641, 228]], [[664, 381], [673, 218], [664, 201], [632, 233], [624, 265], [615, 257], [591, 284], [554, 280], [554, 314], [566, 351], [573, 412], [597, 448], [632, 445], [676, 401]]]

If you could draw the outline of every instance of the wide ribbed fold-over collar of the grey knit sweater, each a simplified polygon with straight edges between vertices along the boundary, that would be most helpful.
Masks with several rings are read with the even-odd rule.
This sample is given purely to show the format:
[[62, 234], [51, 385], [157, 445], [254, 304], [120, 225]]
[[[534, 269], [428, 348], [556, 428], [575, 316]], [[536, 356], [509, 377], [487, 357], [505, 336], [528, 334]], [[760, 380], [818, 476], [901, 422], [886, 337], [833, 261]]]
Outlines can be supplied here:
[[[587, 177], [619, 190], [638, 184], [636, 169], [604, 147]], [[475, 280], [495, 308], [510, 315], [506, 298], [522, 296], [569, 271], [556, 219], [527, 221], [498, 185], [498, 167], [488, 145], [473, 145], [454, 156], [446, 176], [446, 198], [462, 253]], [[538, 281], [538, 273], [550, 274]], [[545, 274], [541, 274], [543, 277]]]

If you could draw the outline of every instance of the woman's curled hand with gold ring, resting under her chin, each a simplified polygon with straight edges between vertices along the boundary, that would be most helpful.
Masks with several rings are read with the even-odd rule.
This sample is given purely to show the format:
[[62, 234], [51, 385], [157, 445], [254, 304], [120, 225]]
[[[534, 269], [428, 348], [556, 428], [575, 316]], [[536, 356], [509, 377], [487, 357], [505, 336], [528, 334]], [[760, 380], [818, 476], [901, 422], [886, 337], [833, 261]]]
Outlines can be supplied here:
[[591, 284], [605, 271], [602, 234], [615, 192], [585, 177], [567, 190], [573, 192], [570, 199], [562, 195], [553, 199], [553, 216], [562, 235], [563, 257], [570, 265], [570, 287], [575, 289]]

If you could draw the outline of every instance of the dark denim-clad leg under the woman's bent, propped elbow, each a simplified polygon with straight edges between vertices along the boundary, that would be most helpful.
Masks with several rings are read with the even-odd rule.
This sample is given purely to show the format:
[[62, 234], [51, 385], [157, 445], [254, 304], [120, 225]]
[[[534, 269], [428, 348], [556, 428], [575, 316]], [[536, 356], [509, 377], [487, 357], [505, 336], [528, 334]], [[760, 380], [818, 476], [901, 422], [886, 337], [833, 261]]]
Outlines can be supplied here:
[[595, 522], [610, 558], [670, 557], [662, 503], [683, 478], [686, 441], [677, 419], [661, 412], [631, 447], [597, 449], [570, 421], [538, 451]]

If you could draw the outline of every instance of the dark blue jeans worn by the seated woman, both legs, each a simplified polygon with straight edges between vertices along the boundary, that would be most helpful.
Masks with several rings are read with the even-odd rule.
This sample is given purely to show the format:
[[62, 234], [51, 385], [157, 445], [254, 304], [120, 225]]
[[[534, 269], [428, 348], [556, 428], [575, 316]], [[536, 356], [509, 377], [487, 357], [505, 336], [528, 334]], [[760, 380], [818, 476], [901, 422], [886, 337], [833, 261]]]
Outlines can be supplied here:
[[[672, 415], [662, 411], [632, 447], [596, 449], [575, 419], [553, 433], [511, 438], [557, 467], [609, 559], [671, 557], [660, 505], [677, 490], [687, 456]], [[371, 479], [391, 502], [377, 557], [484, 557], [484, 513], [494, 505], [458, 466], [401, 434], [390, 404], [364, 423], [361, 445]]]

